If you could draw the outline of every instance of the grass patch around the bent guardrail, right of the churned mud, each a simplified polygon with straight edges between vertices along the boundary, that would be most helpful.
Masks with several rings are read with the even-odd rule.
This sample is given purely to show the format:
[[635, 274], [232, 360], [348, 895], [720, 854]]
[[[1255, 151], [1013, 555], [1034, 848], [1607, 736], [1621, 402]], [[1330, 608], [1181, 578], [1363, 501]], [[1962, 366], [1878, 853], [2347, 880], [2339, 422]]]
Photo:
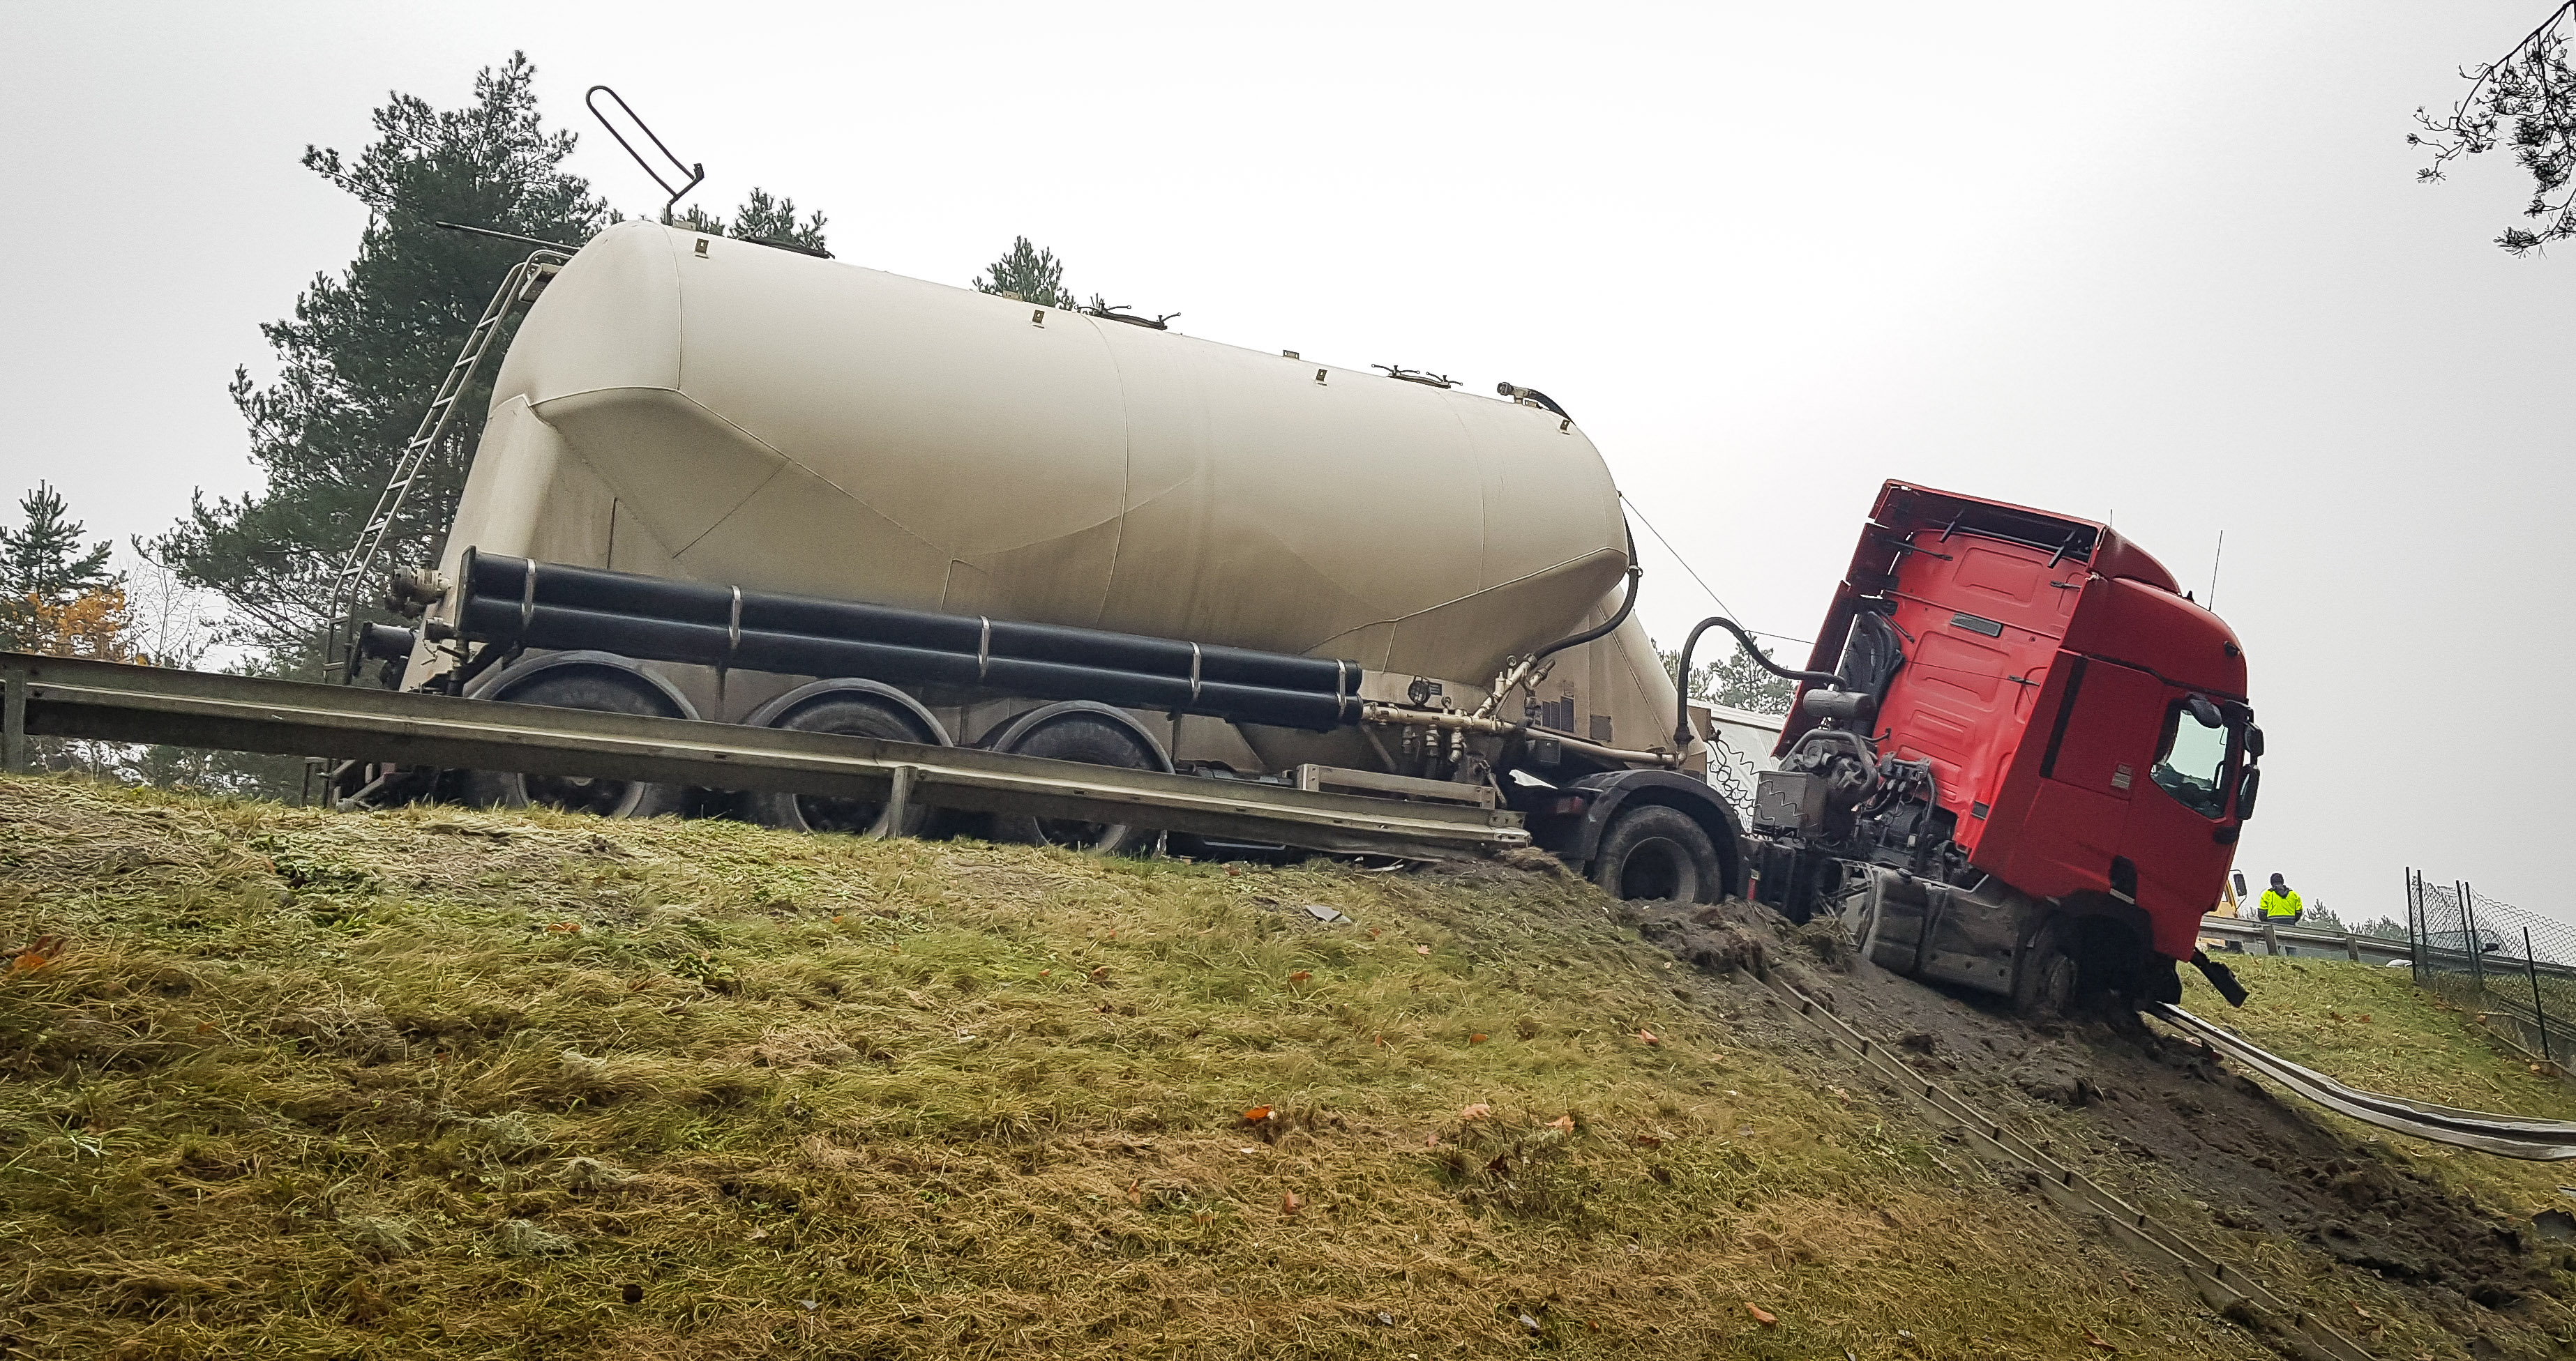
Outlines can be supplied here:
[[[2342, 960], [2228, 955], [2251, 998], [2244, 1009], [2182, 970], [2182, 1006], [2342, 1083], [2463, 1106], [2473, 1111], [2576, 1119], [2576, 1088], [2476, 1024], [2458, 1006], [2421, 991], [2406, 970]], [[2561, 1186], [2576, 1181], [2563, 1163], [2519, 1163], [2463, 1147], [2372, 1129], [2324, 1109], [2313, 1117], [2354, 1140], [2383, 1142], [2416, 1171], [2473, 1196], [2509, 1219], [2543, 1209], [2576, 1212]]]

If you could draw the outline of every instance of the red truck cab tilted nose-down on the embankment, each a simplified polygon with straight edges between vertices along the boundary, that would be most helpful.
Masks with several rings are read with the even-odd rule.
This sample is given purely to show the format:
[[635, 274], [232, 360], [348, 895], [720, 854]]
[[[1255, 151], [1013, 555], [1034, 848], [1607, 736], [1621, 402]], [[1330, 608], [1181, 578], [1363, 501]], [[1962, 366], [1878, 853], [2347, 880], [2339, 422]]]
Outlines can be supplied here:
[[[1917, 774], [1914, 872], [2025, 900], [2017, 955], [2043, 918], [2092, 916], [2192, 957], [2262, 733], [2236, 633], [2164, 563], [2110, 525], [1888, 481], [1808, 669], [1870, 692], [1883, 769]], [[1811, 687], [1780, 756], [1819, 728]]]

